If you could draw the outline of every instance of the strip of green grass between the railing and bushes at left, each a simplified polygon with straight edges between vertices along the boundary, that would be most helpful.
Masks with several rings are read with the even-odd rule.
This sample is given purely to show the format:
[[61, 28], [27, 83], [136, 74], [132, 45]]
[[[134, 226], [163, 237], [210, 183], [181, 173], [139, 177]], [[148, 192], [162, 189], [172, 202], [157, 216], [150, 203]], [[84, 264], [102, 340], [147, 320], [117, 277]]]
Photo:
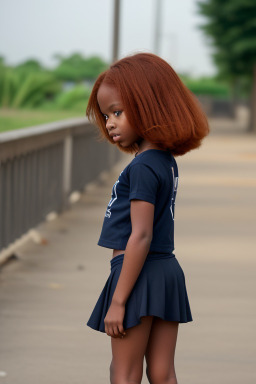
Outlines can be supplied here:
[[84, 116], [85, 111], [83, 110], [77, 112], [0, 108], [0, 132]]

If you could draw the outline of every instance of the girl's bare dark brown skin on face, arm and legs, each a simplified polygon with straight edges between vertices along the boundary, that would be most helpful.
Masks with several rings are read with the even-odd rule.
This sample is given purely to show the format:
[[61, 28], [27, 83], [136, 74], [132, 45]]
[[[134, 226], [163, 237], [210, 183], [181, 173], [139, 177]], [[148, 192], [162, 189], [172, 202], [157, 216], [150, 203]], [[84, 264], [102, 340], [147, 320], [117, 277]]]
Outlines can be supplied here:
[[[105, 115], [108, 134], [119, 135], [114, 141], [118, 141], [122, 147], [136, 142], [138, 153], [161, 149], [137, 136], [127, 120], [120, 95], [114, 88], [102, 84], [97, 96], [100, 110]], [[146, 201], [131, 200], [132, 233], [125, 250], [113, 250], [113, 257], [120, 253], [125, 255], [112, 303], [105, 317], [105, 331], [112, 336], [111, 383], [140, 383], [145, 357], [149, 382], [177, 384], [174, 353], [179, 323], [156, 316], [144, 316], [140, 324], [127, 330], [123, 328], [125, 303], [150, 248], [154, 209], [154, 205]]]

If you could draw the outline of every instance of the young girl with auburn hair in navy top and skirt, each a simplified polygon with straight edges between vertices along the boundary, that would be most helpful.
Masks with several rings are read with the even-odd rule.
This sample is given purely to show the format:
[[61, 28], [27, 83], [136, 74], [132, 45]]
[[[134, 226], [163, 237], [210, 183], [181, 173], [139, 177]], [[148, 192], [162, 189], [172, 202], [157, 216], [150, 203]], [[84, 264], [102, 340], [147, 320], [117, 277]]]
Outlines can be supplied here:
[[113, 186], [98, 245], [113, 249], [111, 272], [87, 325], [111, 336], [112, 384], [177, 384], [179, 323], [192, 321], [184, 272], [174, 255], [178, 168], [174, 156], [209, 132], [193, 94], [160, 57], [139, 53], [102, 73], [90, 121], [134, 159]]

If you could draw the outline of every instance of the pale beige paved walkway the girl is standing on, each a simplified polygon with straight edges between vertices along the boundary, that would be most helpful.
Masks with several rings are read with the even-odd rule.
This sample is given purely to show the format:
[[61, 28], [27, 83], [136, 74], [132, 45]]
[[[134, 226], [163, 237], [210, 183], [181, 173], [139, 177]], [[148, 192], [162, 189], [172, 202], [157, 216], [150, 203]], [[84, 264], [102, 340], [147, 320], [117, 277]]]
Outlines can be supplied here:
[[[177, 158], [176, 257], [194, 318], [179, 328], [180, 384], [256, 382], [256, 136], [225, 127]], [[110, 269], [96, 244], [105, 208], [129, 161], [38, 227], [47, 244], [27, 242], [2, 269], [0, 384], [109, 383], [110, 339], [85, 324]]]

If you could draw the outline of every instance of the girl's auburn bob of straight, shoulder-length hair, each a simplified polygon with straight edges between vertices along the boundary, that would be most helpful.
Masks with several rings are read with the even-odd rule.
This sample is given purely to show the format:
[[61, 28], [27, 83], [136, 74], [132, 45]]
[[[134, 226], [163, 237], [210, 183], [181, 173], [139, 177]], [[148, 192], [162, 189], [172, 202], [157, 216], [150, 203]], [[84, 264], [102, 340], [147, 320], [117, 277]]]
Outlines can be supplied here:
[[97, 102], [103, 82], [119, 92], [126, 117], [136, 133], [169, 149], [174, 156], [199, 147], [209, 133], [199, 102], [173, 68], [154, 54], [138, 53], [115, 62], [98, 77], [86, 109], [89, 121], [100, 128], [100, 136], [124, 152], [138, 151], [138, 144], [124, 148], [109, 136]]

